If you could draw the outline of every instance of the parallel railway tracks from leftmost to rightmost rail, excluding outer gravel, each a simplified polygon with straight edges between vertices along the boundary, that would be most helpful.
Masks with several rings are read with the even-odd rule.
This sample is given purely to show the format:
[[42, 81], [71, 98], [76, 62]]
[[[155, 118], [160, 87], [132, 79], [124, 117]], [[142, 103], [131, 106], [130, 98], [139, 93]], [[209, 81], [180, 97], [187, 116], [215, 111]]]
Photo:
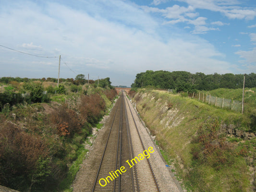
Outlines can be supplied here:
[[129, 102], [122, 92], [112, 111], [114, 115], [97, 164], [92, 192], [160, 191], [149, 158], [129, 164], [130, 167], [127, 164], [127, 160], [134, 159], [149, 147], [143, 144]]

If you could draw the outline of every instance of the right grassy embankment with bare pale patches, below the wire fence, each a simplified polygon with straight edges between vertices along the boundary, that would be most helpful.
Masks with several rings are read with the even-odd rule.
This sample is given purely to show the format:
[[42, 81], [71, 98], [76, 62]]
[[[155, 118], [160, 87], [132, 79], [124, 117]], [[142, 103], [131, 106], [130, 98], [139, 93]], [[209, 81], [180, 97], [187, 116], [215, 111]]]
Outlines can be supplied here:
[[[235, 136], [236, 132], [255, 131], [248, 113], [242, 115], [161, 91], [139, 90], [131, 97], [156, 135], [165, 159], [175, 165], [189, 191], [254, 189], [256, 140]], [[252, 98], [255, 102], [256, 97]]]

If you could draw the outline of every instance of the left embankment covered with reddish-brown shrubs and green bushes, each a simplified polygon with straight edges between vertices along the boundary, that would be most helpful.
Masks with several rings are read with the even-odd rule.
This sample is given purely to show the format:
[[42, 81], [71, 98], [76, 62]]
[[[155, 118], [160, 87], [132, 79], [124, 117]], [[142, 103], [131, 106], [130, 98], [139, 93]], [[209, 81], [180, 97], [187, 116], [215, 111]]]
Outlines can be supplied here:
[[[21, 192], [72, 192], [70, 186], [87, 152], [85, 140], [92, 127], [100, 127], [116, 91], [95, 85], [63, 83], [57, 88], [52, 82], [33, 83], [0, 87], [0, 185]], [[42, 95], [42, 90], [49, 94]], [[30, 92], [26, 100], [19, 98], [23, 91]], [[33, 102], [39, 99], [42, 103]]]

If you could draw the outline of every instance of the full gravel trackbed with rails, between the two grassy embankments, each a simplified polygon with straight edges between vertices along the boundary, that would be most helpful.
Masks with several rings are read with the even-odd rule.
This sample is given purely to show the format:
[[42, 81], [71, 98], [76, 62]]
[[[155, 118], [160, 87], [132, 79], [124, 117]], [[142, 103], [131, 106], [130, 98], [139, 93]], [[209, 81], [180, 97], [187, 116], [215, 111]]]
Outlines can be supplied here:
[[124, 91], [77, 173], [73, 192], [81, 191], [183, 191]]

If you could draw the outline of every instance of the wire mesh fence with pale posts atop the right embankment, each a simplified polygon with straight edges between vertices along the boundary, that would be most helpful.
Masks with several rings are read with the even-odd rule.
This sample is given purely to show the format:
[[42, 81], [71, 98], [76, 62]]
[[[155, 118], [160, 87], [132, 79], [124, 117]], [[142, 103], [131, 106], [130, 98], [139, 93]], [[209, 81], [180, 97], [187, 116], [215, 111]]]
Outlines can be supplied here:
[[[173, 89], [157, 89], [159, 91], [167, 91], [173, 93]], [[226, 108], [234, 111], [242, 112], [242, 101], [237, 101], [233, 99], [220, 98], [217, 96], [207, 95], [205, 93], [192, 93], [188, 94], [189, 97], [202, 101], [209, 105], [214, 105], [218, 108]]]

